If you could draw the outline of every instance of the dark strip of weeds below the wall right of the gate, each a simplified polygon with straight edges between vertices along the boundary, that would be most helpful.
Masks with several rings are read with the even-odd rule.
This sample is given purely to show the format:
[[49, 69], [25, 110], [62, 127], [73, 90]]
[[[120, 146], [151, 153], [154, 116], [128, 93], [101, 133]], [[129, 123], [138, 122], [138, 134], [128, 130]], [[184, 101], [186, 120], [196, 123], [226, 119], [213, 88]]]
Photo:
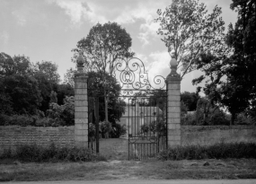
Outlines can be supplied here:
[[201, 160], [227, 158], [256, 158], [255, 143], [221, 143], [216, 145], [187, 145], [169, 147], [159, 153], [161, 160]]

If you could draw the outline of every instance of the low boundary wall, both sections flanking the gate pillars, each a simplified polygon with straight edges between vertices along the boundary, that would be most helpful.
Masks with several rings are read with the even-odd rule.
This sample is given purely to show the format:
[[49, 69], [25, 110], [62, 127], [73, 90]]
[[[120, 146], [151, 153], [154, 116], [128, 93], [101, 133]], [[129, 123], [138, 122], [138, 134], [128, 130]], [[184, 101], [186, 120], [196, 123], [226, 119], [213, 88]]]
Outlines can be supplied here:
[[[256, 143], [255, 126], [181, 126], [181, 145]], [[0, 153], [16, 145], [75, 145], [75, 127], [0, 126]]]

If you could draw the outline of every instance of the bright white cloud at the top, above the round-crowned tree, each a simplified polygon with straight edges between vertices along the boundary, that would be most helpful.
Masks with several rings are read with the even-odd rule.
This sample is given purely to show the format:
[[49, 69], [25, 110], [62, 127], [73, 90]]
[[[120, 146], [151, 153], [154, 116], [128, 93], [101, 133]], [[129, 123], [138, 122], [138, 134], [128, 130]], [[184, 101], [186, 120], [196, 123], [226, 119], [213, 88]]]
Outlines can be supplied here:
[[143, 46], [149, 44], [150, 39], [157, 37], [156, 31], [159, 23], [154, 22], [156, 10], [166, 6], [168, 1], [149, 0], [146, 4], [139, 1], [122, 1], [120, 6], [109, 2], [97, 0], [46, 0], [49, 4], [57, 4], [66, 15], [70, 17], [73, 25], [78, 27], [85, 21], [91, 23], [118, 22], [119, 24], [131, 24], [141, 21], [140, 32], [137, 38]]

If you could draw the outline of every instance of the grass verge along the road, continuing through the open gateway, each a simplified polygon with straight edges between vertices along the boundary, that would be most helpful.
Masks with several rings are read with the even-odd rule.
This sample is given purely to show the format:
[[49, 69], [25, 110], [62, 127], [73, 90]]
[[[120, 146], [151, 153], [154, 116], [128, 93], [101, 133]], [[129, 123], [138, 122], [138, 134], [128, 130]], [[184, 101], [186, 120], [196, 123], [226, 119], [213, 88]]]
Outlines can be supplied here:
[[7, 180], [174, 180], [256, 179], [255, 159], [128, 161], [126, 139], [102, 139], [107, 162], [0, 161], [0, 181]]

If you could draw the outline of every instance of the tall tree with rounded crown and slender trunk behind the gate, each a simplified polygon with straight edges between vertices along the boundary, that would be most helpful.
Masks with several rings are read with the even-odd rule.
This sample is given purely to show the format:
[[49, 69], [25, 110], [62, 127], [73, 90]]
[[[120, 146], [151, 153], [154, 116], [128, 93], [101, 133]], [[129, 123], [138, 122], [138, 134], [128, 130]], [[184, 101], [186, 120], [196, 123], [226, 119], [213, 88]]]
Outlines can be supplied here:
[[105, 24], [97, 23], [89, 31], [86, 38], [78, 41], [75, 49], [75, 57], [77, 53], [83, 54], [86, 62], [85, 69], [87, 71], [96, 70], [102, 71], [102, 85], [105, 101], [105, 120], [109, 121], [108, 117], [108, 102], [109, 96], [106, 92], [108, 81], [104, 77], [105, 73], [113, 75], [115, 66], [123, 57], [132, 57], [133, 52], [130, 51], [131, 38], [124, 28], [116, 22], [108, 22]]

